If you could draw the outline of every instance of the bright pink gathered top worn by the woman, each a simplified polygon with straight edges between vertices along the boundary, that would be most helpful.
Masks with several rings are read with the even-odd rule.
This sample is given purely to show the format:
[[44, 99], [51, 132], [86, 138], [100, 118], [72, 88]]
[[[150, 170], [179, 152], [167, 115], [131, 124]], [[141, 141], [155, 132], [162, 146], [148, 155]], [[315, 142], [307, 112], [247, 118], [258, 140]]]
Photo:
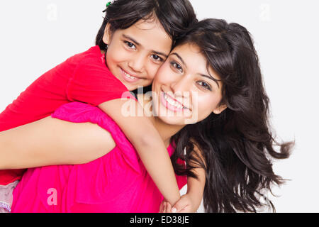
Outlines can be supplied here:
[[[116, 147], [84, 165], [28, 169], [14, 189], [12, 212], [159, 211], [162, 194], [133, 145], [110, 117], [97, 107], [76, 102], [61, 106], [52, 117], [97, 123], [111, 133]], [[174, 153], [172, 145], [167, 150], [169, 155]], [[179, 189], [186, 182], [186, 176], [177, 176]]]

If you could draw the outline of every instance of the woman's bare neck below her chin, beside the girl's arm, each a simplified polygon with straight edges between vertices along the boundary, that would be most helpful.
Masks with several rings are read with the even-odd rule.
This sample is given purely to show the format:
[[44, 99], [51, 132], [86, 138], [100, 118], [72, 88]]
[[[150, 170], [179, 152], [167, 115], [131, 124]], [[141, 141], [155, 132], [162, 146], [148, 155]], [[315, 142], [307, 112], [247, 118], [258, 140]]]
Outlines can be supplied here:
[[138, 101], [144, 107], [145, 114], [150, 116], [150, 121], [152, 121], [153, 125], [159, 132], [159, 135], [162, 137], [164, 144], [168, 147], [172, 136], [178, 133], [181, 128], [184, 128], [184, 126], [170, 125], [168, 123], [164, 123], [160, 118], [150, 115], [152, 110], [146, 109], [146, 107], [149, 106], [147, 104], [151, 101], [150, 96], [147, 96], [146, 94], [138, 94]]

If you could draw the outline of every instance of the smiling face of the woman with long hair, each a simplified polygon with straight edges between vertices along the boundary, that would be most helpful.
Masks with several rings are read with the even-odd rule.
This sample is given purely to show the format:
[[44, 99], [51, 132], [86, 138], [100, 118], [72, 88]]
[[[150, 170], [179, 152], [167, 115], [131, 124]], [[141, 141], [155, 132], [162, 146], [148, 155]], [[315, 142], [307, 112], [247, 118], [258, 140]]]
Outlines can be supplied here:
[[197, 123], [212, 112], [220, 114], [225, 105], [218, 74], [207, 67], [197, 45], [186, 43], [174, 48], [159, 68], [152, 84], [153, 110], [165, 123]]

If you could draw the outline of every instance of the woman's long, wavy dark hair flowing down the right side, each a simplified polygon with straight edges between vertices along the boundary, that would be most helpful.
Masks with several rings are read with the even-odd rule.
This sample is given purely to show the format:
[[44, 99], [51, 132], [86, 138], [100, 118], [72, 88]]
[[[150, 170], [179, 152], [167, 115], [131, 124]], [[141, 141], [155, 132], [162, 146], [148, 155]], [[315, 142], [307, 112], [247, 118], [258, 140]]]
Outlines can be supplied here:
[[[172, 155], [175, 172], [197, 178], [194, 168], [206, 170], [206, 212], [256, 212], [264, 206], [275, 211], [265, 194], [284, 179], [274, 174], [272, 159], [289, 157], [294, 142], [277, 143], [272, 135], [269, 98], [250, 33], [237, 23], [206, 19], [177, 41], [184, 43], [197, 45], [207, 67], [218, 73], [223, 84], [220, 105], [228, 108], [172, 137], [177, 144]], [[186, 161], [186, 169], [178, 159]]]

